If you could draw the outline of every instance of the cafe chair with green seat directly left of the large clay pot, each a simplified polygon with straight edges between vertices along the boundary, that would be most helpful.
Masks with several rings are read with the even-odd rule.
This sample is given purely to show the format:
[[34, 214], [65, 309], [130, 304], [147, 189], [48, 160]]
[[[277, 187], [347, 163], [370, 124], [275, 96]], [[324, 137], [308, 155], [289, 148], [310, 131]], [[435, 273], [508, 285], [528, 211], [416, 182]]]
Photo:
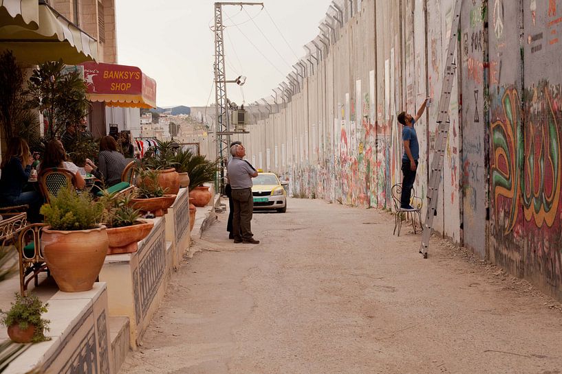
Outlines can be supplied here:
[[43, 252], [41, 251], [41, 231], [45, 224], [30, 224], [20, 233], [16, 242], [19, 256], [19, 287], [22, 296], [28, 292], [28, 284], [34, 279], [39, 284], [39, 273], [50, 275]]

